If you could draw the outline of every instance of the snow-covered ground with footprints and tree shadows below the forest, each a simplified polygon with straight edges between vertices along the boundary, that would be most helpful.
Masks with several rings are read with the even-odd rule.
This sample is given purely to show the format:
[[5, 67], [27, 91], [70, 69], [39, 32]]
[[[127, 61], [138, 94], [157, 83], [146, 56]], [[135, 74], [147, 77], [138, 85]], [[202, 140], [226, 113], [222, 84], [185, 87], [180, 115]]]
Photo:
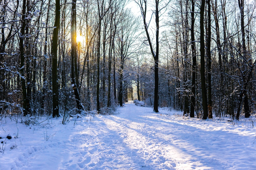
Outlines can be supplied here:
[[3, 118], [0, 169], [256, 169], [255, 118], [185, 118], [132, 101], [117, 112], [66, 125]]

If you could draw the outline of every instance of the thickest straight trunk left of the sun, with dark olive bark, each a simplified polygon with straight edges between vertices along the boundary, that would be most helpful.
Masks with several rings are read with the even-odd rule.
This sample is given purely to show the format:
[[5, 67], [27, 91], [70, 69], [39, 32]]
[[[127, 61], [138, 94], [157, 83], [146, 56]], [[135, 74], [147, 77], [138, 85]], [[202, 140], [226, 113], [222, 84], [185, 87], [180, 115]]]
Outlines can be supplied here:
[[56, 0], [55, 23], [52, 37], [52, 117], [59, 116], [59, 81], [57, 70], [58, 33], [60, 27], [60, 0]]

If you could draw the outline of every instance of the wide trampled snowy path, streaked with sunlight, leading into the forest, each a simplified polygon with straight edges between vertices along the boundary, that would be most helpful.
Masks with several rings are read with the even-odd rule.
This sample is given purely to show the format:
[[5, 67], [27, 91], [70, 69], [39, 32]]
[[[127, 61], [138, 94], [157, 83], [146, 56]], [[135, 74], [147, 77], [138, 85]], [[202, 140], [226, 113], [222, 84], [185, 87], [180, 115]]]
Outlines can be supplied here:
[[[234, 136], [251, 133], [232, 132], [207, 121], [182, 118], [153, 112], [152, 108], [135, 106], [129, 101], [119, 114], [98, 117], [97, 126], [83, 130], [76, 139], [78, 152], [62, 164], [63, 169], [236, 169], [248, 167], [247, 143]], [[164, 112], [164, 111], [163, 111]], [[175, 119], [176, 118], [176, 119]], [[221, 124], [223, 126], [223, 124]], [[88, 137], [88, 132], [90, 137]], [[253, 138], [252, 138], [253, 139]], [[232, 149], [231, 149], [232, 148]], [[238, 153], [234, 155], [233, 152]], [[235, 160], [238, 159], [239, 162]], [[75, 158], [78, 159], [75, 159]], [[228, 158], [228, 159], [227, 159]], [[255, 160], [255, 158], [250, 158]], [[76, 160], [76, 161], [73, 161]], [[249, 161], [249, 162], [248, 162]]]

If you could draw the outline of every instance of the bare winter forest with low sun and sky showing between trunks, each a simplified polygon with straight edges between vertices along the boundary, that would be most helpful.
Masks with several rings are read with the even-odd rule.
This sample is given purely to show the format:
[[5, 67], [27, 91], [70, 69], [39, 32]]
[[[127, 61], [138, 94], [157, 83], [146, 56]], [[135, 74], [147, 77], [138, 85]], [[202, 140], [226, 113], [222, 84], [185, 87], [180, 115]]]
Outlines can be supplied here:
[[255, 0], [0, 2], [1, 117], [255, 114]]

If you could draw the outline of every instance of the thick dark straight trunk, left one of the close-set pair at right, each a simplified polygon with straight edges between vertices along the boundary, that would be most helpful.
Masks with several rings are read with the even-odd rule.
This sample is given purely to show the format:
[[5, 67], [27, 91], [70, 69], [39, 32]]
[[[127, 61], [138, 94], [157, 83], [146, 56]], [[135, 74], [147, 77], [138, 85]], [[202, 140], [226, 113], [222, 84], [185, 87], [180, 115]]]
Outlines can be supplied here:
[[205, 0], [202, 0], [200, 7], [200, 74], [201, 74], [201, 90], [202, 90], [202, 106], [203, 106], [203, 119], [207, 119], [207, 91], [205, 85], [205, 41], [204, 41], [204, 12]]

